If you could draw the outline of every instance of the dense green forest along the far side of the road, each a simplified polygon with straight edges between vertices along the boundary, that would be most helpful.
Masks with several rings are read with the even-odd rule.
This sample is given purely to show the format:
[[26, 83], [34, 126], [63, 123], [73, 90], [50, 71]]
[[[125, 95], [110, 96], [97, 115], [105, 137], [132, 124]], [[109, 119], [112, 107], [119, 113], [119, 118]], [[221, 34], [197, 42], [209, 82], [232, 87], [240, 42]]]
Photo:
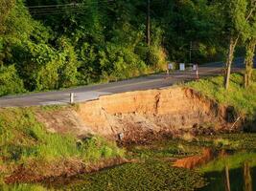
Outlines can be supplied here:
[[253, 0], [0, 4], [0, 96], [128, 78], [164, 70], [168, 60], [200, 64], [243, 53], [246, 44], [255, 48]]

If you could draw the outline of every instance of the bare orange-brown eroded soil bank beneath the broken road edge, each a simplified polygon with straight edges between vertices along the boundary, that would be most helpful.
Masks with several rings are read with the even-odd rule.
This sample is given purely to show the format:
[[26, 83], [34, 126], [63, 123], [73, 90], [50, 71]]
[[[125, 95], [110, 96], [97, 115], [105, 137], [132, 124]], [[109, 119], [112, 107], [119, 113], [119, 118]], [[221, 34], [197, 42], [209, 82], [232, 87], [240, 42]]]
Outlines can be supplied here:
[[36, 116], [53, 132], [121, 137], [131, 142], [186, 133], [212, 135], [240, 127], [233, 125], [237, 115], [232, 107], [182, 87], [101, 96], [76, 108], [37, 112]]

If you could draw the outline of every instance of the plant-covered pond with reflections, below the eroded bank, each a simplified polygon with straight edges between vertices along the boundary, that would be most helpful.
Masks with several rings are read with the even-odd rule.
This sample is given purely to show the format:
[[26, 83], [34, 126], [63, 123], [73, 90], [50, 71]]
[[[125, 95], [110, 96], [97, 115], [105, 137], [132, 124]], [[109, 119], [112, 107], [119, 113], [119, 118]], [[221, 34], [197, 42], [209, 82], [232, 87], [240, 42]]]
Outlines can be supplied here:
[[227, 191], [228, 187], [231, 191], [253, 191], [256, 190], [256, 136], [240, 137], [169, 139], [131, 145], [127, 147], [128, 158], [136, 159], [135, 162], [71, 179], [48, 181], [47, 185], [60, 190], [90, 191]]

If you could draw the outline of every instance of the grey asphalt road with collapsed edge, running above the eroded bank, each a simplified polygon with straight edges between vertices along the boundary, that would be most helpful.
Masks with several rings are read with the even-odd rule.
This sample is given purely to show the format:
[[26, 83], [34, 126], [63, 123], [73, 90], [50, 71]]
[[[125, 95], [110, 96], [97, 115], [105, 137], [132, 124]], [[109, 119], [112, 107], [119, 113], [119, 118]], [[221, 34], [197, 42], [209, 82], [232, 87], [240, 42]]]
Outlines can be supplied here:
[[[256, 59], [254, 59], [256, 65]], [[238, 58], [233, 64], [232, 71], [240, 71], [244, 66], [244, 59]], [[198, 68], [199, 77], [221, 74], [222, 62], [207, 63]], [[70, 93], [75, 94], [75, 102], [96, 99], [99, 96], [124, 93], [129, 91], [161, 89], [170, 87], [176, 83], [194, 80], [196, 72], [186, 70], [175, 71], [167, 77], [167, 74], [152, 74], [132, 78], [124, 81], [112, 82], [101, 85], [81, 86], [55, 92], [32, 93], [20, 96], [0, 97], [0, 107], [26, 107], [34, 105], [68, 104]]]

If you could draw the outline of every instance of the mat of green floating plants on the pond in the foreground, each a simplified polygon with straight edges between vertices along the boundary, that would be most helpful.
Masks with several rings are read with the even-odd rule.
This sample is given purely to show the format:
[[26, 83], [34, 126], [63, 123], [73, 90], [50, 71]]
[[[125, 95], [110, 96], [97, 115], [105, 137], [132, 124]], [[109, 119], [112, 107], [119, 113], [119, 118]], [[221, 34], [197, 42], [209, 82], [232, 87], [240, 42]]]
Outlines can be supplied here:
[[204, 185], [197, 172], [174, 168], [167, 162], [147, 161], [84, 175], [71, 190], [195, 190]]

